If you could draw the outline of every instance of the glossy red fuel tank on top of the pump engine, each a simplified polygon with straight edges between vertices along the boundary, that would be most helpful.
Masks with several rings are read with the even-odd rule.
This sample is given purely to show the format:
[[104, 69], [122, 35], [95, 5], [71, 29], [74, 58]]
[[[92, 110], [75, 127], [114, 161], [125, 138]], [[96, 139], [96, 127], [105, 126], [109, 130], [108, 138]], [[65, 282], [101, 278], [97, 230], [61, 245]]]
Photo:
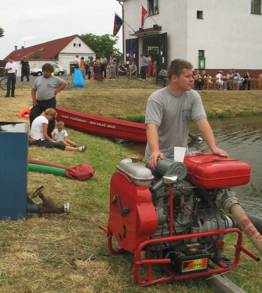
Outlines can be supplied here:
[[197, 153], [184, 157], [186, 180], [204, 189], [230, 188], [250, 180], [250, 166], [215, 154]]

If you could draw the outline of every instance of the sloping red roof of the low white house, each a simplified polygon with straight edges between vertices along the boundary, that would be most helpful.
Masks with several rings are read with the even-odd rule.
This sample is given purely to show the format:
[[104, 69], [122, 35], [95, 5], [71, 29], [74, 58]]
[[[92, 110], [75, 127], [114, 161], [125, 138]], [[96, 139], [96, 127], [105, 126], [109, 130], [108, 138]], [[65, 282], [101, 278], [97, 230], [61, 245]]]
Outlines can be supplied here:
[[[44, 43], [34, 45], [31, 47], [14, 50], [10, 54], [8, 54], [8, 56], [6, 56], [4, 60], [8, 61], [9, 56], [12, 56], [14, 60], [20, 60], [24, 56], [27, 58], [27, 60], [32, 60], [32, 61], [33, 60], [46, 60], [46, 61], [53, 60], [53, 59], [56, 59], [56, 56], [59, 54], [59, 52], [66, 45], [68, 45], [68, 43], [73, 41], [76, 37], [81, 38], [79, 35], [73, 35], [73, 36], [57, 39], [50, 42], [44, 42]], [[38, 59], [31, 58], [34, 56], [36, 52], [40, 53], [40, 58]]]

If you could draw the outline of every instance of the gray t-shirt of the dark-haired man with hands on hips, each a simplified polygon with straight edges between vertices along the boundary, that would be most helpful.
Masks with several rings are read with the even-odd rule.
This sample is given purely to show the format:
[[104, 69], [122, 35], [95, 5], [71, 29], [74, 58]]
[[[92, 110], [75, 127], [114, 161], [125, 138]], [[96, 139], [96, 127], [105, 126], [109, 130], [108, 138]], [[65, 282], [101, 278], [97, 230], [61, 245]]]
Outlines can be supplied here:
[[48, 101], [54, 98], [55, 90], [63, 83], [64, 80], [58, 76], [51, 75], [46, 78], [42, 75], [35, 80], [32, 89], [37, 91], [38, 101]]

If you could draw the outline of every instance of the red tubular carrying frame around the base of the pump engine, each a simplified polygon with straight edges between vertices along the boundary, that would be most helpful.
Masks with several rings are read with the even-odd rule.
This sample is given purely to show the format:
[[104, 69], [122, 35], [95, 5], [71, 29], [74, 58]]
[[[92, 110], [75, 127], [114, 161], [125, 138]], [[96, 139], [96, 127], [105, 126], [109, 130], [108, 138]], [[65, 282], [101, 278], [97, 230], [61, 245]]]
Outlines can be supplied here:
[[[121, 253], [124, 250], [121, 248], [118, 248], [115, 250], [112, 247], [112, 236], [113, 233], [110, 230], [110, 228], [104, 228], [103, 226], [99, 226], [101, 230], [106, 232], [107, 234], [107, 243], [108, 243], [108, 249], [113, 253]], [[143, 259], [141, 258], [141, 251], [143, 248], [145, 248], [148, 245], [155, 244], [155, 243], [162, 243], [162, 242], [171, 242], [171, 241], [178, 241], [178, 240], [184, 240], [189, 238], [195, 238], [195, 237], [205, 237], [205, 236], [213, 236], [213, 235], [219, 235], [219, 234], [227, 234], [227, 233], [238, 233], [238, 241], [237, 244], [235, 244], [236, 251], [235, 251], [235, 260], [232, 263], [232, 265], [227, 266], [222, 262], [216, 263], [220, 268], [217, 269], [208, 269], [206, 272], [197, 272], [197, 273], [191, 273], [188, 275], [176, 275], [174, 272], [172, 272], [167, 265], [171, 262], [170, 258], [153, 258], [153, 259]], [[206, 231], [206, 232], [198, 232], [198, 233], [191, 233], [186, 235], [176, 235], [176, 236], [169, 236], [169, 237], [161, 237], [156, 239], [150, 239], [143, 241], [139, 244], [137, 249], [134, 251], [134, 278], [137, 283], [141, 285], [150, 285], [150, 284], [157, 284], [157, 283], [166, 283], [171, 281], [178, 281], [182, 279], [189, 279], [189, 278], [195, 278], [195, 277], [201, 277], [201, 276], [207, 276], [213, 273], [222, 273], [227, 272], [232, 269], [234, 269], [237, 264], [239, 263], [240, 259], [240, 253], [243, 251], [248, 256], [253, 258], [256, 261], [259, 261], [259, 257], [255, 255], [253, 252], [246, 249], [244, 246], [242, 246], [242, 231], [237, 228], [230, 228], [230, 229], [222, 229], [222, 230], [214, 230], [214, 231]], [[168, 274], [161, 278], [152, 278], [152, 265], [153, 264], [159, 264], [164, 265], [163, 269]], [[146, 265], [147, 267], [147, 275], [141, 279], [139, 277], [139, 272], [141, 265]]]

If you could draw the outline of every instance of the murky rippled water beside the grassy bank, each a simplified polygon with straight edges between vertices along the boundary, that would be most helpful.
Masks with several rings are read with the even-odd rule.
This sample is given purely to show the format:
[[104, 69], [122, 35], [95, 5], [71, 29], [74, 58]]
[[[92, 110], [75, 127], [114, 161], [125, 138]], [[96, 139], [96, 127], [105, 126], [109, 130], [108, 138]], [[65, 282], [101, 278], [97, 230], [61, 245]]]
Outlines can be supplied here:
[[[209, 123], [214, 131], [217, 146], [224, 149], [231, 158], [245, 162], [251, 167], [250, 182], [232, 190], [237, 192], [247, 214], [262, 219], [262, 115], [212, 119]], [[194, 123], [190, 131], [199, 134]], [[190, 142], [188, 146], [190, 151], [210, 153], [204, 142]], [[145, 144], [125, 144], [125, 147], [144, 155]]]

